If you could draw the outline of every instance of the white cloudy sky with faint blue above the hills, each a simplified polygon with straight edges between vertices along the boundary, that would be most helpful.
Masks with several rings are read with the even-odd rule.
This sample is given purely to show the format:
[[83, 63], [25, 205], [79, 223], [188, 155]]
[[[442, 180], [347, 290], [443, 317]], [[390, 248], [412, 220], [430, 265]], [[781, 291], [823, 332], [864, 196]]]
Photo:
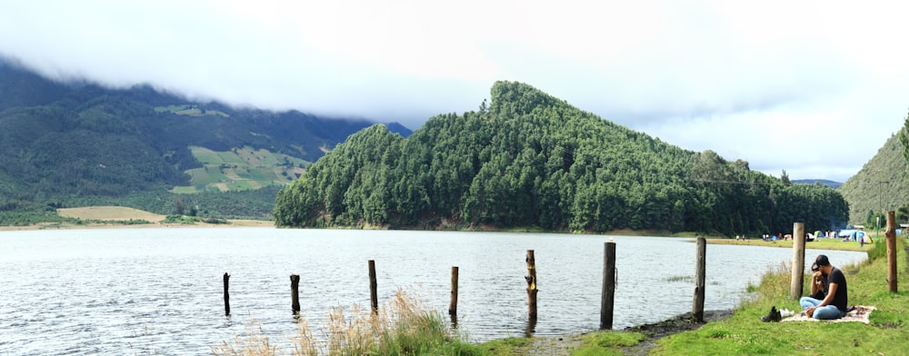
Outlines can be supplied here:
[[519, 81], [685, 149], [844, 182], [909, 111], [900, 3], [5, 1], [0, 55], [412, 129]]

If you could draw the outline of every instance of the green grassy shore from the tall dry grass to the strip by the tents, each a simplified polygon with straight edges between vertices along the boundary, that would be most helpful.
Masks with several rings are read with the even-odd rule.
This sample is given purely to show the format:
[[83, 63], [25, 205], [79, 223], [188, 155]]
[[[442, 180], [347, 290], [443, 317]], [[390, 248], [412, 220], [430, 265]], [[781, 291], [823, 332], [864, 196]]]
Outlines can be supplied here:
[[[714, 241], [715, 243], [716, 241]], [[722, 242], [728, 242], [722, 240]], [[765, 245], [761, 241], [735, 242], [742, 245]], [[814, 242], [810, 242], [814, 243]], [[594, 331], [584, 335], [560, 338], [505, 339], [481, 344], [491, 355], [727, 355], [727, 354], [795, 354], [795, 355], [896, 355], [909, 350], [904, 337], [909, 323], [909, 258], [902, 238], [897, 239], [897, 291], [887, 288], [887, 258], [884, 239], [871, 246], [856, 242], [832, 240], [811, 246], [822, 248], [841, 243], [839, 247], [867, 251], [869, 259], [859, 265], [834, 265], [844, 271], [849, 282], [851, 305], [873, 305], [870, 323], [860, 322], [762, 322], [760, 317], [771, 306], [801, 310], [798, 301], [789, 296], [790, 266], [783, 263], [765, 272], [759, 285], [749, 287], [757, 295], [751, 302], [734, 309], [728, 317], [705, 323], [690, 321], [684, 315], [654, 324], [665, 327], [664, 334], [641, 334], [641, 328], [624, 331]], [[786, 243], [775, 244], [786, 247]], [[791, 247], [792, 242], [788, 242]], [[803, 293], [803, 295], [806, 293]], [[661, 326], [662, 325], [662, 326]], [[674, 331], [672, 330], [673, 328]], [[629, 341], [629, 338], [631, 341]]]

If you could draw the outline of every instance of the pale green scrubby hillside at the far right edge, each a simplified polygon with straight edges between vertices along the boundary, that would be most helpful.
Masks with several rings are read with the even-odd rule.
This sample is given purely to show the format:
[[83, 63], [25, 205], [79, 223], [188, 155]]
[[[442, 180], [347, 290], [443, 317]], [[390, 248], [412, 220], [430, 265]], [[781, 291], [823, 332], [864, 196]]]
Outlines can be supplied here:
[[899, 136], [891, 135], [874, 157], [839, 188], [849, 202], [850, 222], [874, 226], [877, 216], [886, 221], [885, 213], [894, 210], [898, 212], [898, 222], [907, 223], [909, 180], [903, 151]]

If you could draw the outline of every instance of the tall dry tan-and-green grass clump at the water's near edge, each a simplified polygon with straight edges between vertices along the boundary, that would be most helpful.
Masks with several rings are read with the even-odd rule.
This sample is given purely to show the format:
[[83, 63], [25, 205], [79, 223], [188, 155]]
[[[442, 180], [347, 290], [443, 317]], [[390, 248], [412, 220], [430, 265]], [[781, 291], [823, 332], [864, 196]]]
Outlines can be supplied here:
[[429, 310], [418, 298], [402, 290], [379, 308], [377, 313], [355, 304], [349, 311], [332, 308], [319, 328], [313, 328], [302, 316], [292, 338], [293, 351], [285, 353], [269, 342], [261, 329], [248, 330], [246, 337], [235, 336], [213, 347], [215, 355], [476, 355], [482, 354], [466, 341], [464, 334], [453, 328], [442, 313]]

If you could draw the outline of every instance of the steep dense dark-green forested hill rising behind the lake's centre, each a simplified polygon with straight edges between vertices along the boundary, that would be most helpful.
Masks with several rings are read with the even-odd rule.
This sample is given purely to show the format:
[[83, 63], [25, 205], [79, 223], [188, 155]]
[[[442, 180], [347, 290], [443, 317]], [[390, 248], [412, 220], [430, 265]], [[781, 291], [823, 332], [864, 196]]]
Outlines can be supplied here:
[[494, 84], [478, 111], [408, 138], [373, 126], [278, 194], [280, 226], [654, 229], [726, 235], [844, 225], [843, 197], [694, 153], [526, 84]]

